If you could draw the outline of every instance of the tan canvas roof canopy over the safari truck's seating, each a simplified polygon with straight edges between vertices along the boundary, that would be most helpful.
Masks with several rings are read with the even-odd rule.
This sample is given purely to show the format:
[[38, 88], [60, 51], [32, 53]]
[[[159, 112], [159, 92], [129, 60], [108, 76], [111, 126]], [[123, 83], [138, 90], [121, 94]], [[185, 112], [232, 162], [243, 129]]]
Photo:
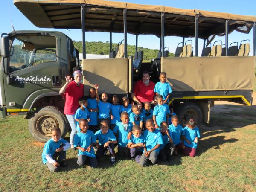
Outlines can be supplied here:
[[123, 9], [127, 9], [127, 31], [131, 34], [161, 36], [161, 12], [165, 14], [165, 36], [194, 37], [198, 15], [198, 37], [211, 41], [233, 30], [249, 33], [255, 16], [178, 9], [167, 6], [139, 5], [103, 0], [14, 0], [15, 6], [35, 26], [56, 29], [81, 29], [81, 4], [85, 5], [85, 30], [123, 32]]

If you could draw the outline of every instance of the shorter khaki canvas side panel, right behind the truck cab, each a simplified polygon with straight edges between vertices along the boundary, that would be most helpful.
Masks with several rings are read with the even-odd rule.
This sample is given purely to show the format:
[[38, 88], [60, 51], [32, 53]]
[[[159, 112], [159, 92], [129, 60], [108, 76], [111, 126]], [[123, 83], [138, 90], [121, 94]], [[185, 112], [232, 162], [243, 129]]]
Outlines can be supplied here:
[[99, 93], [128, 93], [128, 58], [83, 59], [84, 94], [99, 84]]

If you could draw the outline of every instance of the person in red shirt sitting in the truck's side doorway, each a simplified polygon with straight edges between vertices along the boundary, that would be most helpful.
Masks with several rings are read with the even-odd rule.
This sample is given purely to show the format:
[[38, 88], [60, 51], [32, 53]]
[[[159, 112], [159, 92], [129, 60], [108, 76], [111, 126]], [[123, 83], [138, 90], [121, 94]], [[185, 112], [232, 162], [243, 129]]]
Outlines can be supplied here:
[[131, 93], [131, 98], [137, 103], [140, 109], [142, 108], [142, 103], [151, 103], [154, 100], [155, 83], [149, 79], [150, 76], [148, 71], [144, 71], [142, 80], [137, 81], [134, 84], [134, 90], [133, 93]]

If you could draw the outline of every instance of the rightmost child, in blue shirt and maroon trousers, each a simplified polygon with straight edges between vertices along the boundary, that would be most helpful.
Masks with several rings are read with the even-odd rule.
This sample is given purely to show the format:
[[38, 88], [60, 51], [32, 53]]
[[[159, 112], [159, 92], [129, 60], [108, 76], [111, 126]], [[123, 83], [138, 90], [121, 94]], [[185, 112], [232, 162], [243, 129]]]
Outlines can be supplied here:
[[193, 119], [187, 122], [187, 126], [183, 129], [182, 135], [184, 136], [185, 150], [183, 154], [185, 156], [195, 157], [196, 148], [198, 145], [198, 138], [200, 138], [200, 133], [196, 123]]

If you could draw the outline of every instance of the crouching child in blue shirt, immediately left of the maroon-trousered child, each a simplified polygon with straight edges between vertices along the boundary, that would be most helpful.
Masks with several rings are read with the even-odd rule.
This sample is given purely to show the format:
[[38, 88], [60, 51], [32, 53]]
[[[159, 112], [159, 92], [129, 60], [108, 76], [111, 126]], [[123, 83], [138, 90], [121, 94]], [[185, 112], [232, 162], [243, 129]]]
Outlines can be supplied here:
[[177, 115], [173, 115], [171, 117], [172, 124], [169, 125], [168, 129], [172, 132], [172, 140], [173, 144], [175, 145], [174, 148], [174, 154], [178, 154], [178, 150], [183, 151], [185, 149], [185, 146], [180, 140], [180, 136], [183, 132], [183, 127], [179, 124], [179, 119]]

